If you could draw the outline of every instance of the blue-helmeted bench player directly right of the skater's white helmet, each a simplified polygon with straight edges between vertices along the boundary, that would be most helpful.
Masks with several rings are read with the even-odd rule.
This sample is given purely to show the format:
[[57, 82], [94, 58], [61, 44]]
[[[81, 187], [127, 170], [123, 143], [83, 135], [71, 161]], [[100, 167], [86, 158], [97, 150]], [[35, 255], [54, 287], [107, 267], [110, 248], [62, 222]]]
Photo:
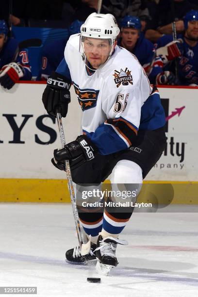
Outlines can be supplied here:
[[117, 44], [133, 53], [147, 72], [147, 68], [153, 59], [155, 48], [152, 42], [141, 33], [139, 17], [125, 16], [121, 20], [120, 27], [120, 39]]

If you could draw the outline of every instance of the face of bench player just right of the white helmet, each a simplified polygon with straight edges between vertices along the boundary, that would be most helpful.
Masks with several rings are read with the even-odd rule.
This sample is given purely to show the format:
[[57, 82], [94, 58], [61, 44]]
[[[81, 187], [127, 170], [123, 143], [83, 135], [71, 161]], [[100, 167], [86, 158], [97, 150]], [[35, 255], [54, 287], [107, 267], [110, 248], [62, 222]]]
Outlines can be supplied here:
[[139, 38], [139, 32], [137, 29], [123, 28], [121, 38], [121, 46], [125, 49], [132, 50]]

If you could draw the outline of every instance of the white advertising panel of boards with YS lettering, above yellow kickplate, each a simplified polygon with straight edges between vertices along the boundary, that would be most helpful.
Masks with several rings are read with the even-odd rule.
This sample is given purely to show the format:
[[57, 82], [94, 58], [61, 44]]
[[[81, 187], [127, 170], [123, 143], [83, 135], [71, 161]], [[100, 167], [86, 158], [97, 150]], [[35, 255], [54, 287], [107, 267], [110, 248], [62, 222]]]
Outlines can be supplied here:
[[[60, 148], [58, 127], [42, 103], [43, 83], [0, 87], [0, 178], [63, 179], [51, 165]], [[159, 88], [166, 116], [167, 144], [146, 180], [198, 181], [198, 88]], [[63, 120], [66, 141], [81, 132], [82, 110], [71, 87], [71, 103]]]

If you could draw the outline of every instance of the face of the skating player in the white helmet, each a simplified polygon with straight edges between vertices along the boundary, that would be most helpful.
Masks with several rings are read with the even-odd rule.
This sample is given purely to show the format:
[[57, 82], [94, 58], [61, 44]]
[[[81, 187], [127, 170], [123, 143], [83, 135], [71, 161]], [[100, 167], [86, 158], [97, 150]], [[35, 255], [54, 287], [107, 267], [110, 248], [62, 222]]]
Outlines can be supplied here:
[[99, 38], [85, 38], [84, 41], [84, 53], [94, 68], [99, 68], [99, 66], [106, 62], [109, 57], [111, 46], [109, 40], [99, 39]]

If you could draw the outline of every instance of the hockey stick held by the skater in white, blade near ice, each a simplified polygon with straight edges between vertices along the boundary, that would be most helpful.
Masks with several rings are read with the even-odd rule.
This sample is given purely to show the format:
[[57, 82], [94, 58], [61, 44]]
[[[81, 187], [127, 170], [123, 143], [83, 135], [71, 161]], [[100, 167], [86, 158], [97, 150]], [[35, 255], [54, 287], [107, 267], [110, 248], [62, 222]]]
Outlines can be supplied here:
[[[65, 134], [64, 134], [64, 130], [63, 130], [61, 114], [58, 110], [57, 110], [57, 114], [56, 114], [56, 119], [57, 119], [57, 123], [58, 123], [58, 130], [60, 133], [60, 140], [61, 140], [62, 148], [64, 148], [66, 145], [66, 139], [65, 139]], [[91, 242], [90, 242], [90, 238], [89, 238], [89, 240], [86, 244], [83, 243], [81, 225], [80, 225], [77, 204], [76, 204], [76, 198], [75, 198], [75, 193], [74, 193], [74, 187], [73, 187], [73, 182], [72, 182], [72, 178], [71, 178], [71, 170], [70, 170], [68, 160], [65, 161], [65, 167], [66, 167], [67, 185], [68, 185], [69, 194], [70, 194], [70, 198], [71, 198], [71, 205], [72, 205], [72, 210], [73, 210], [73, 215], [74, 215], [74, 221], [75, 221], [79, 246], [81, 248], [81, 254], [86, 255], [90, 251]]]

